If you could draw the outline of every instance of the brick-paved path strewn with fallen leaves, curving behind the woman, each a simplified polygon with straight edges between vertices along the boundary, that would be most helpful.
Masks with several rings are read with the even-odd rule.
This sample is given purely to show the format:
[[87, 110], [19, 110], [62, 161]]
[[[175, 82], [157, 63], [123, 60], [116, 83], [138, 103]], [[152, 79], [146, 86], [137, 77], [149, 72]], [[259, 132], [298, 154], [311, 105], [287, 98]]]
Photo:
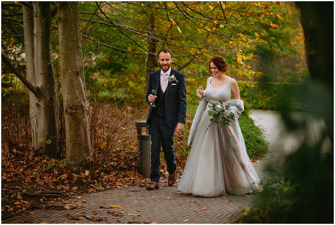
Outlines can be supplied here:
[[[262, 161], [253, 165], [260, 179], [266, 180], [272, 174], [266, 169], [267, 165], [280, 172], [285, 156], [292, 153], [295, 147], [293, 141], [303, 136], [283, 132], [286, 136], [283, 135], [284, 142], [280, 142], [277, 135], [281, 132], [279, 115], [263, 113], [253, 111], [252, 117], [256, 124], [264, 125], [269, 135], [270, 149]], [[167, 183], [167, 179], [160, 182]], [[258, 195], [206, 198], [181, 194], [177, 186], [162, 186], [152, 191], [145, 187], [128, 186], [70, 198], [66, 200], [67, 204], [52, 204], [60, 210], [56, 210], [56, 207], [33, 210], [33, 214], [28, 212], [12, 216], [2, 223], [234, 223], [243, 216], [243, 208], [251, 206]], [[65, 206], [70, 209], [64, 209]]]

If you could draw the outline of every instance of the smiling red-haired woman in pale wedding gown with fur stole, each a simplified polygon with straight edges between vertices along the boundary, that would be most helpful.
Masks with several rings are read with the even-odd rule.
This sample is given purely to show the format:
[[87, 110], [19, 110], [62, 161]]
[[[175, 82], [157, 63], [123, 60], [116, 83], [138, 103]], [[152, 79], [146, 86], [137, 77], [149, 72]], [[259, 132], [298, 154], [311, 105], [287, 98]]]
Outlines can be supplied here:
[[[185, 170], [178, 190], [185, 194], [214, 197], [219, 194], [246, 194], [260, 190], [260, 180], [246, 151], [238, 117], [244, 110], [236, 80], [224, 74], [227, 62], [221, 56], [210, 60], [206, 90], [195, 114], [188, 145]], [[230, 100], [231, 95], [233, 100]], [[209, 128], [209, 102], [229, 105], [235, 118], [221, 131], [219, 124]], [[208, 128], [208, 130], [207, 130]]]

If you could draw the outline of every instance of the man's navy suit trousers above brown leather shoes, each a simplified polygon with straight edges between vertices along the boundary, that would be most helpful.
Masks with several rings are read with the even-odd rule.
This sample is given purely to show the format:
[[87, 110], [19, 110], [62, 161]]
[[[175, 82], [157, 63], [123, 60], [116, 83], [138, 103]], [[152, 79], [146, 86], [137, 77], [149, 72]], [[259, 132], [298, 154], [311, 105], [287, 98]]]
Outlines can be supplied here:
[[152, 114], [150, 115], [148, 124], [151, 135], [150, 180], [159, 182], [160, 147], [163, 149], [167, 172], [169, 172], [169, 174], [173, 174], [177, 169], [177, 164], [175, 161], [175, 150], [173, 149], [173, 138], [176, 128], [167, 126], [165, 117], [158, 117]]

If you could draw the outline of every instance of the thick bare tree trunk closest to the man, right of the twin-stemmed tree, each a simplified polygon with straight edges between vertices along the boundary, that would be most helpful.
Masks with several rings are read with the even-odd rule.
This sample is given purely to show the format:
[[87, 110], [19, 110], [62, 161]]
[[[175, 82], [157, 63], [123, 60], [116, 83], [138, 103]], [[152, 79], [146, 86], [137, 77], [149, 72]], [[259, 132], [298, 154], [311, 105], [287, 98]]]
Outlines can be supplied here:
[[57, 2], [66, 160], [86, 167], [92, 151], [83, 71], [78, 2]]

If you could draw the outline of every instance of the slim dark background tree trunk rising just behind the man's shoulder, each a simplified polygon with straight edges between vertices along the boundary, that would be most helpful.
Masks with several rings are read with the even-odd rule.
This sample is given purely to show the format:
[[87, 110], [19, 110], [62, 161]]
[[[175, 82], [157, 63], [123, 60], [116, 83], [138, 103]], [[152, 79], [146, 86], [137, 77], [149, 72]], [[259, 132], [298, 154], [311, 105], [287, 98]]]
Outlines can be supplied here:
[[[152, 30], [155, 29], [155, 16], [154, 16], [153, 13], [151, 13], [151, 15], [150, 15], [150, 28]], [[156, 46], [157, 46], [156, 39], [151, 36], [149, 38], [148, 45], [149, 45], [148, 51], [152, 52], [152, 53], [155, 53], [156, 52]], [[147, 60], [146, 60], [146, 69], [147, 69], [147, 71], [146, 71], [146, 78], [145, 78], [145, 91], [148, 90], [150, 73], [152, 73], [152, 72], [155, 71], [155, 69], [154, 69], [155, 66], [156, 66], [155, 60], [158, 60], [157, 56], [148, 53]]]

